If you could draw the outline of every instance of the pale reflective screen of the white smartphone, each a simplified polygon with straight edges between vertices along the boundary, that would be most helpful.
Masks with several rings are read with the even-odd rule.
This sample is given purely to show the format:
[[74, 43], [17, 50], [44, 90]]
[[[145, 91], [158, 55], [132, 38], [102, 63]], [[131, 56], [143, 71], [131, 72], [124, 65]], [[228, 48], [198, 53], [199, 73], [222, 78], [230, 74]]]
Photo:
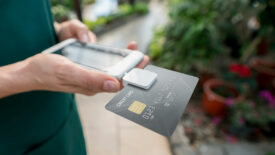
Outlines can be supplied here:
[[70, 44], [54, 53], [63, 55], [77, 64], [102, 71], [106, 71], [127, 56], [125, 53], [95, 48], [81, 43]]

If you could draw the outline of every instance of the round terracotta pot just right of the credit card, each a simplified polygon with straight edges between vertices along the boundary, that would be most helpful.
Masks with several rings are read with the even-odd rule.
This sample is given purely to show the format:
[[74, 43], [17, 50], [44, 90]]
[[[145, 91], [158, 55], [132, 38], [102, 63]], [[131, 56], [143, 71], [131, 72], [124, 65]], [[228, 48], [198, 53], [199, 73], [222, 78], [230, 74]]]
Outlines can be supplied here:
[[218, 88], [220, 86], [228, 87], [228, 90], [234, 94], [232, 97], [233, 99], [240, 99], [240, 95], [233, 85], [219, 79], [211, 79], [206, 81], [203, 86], [204, 94], [202, 106], [205, 112], [212, 116], [224, 115], [227, 108], [225, 105], [227, 99], [213, 91], [214, 88]]

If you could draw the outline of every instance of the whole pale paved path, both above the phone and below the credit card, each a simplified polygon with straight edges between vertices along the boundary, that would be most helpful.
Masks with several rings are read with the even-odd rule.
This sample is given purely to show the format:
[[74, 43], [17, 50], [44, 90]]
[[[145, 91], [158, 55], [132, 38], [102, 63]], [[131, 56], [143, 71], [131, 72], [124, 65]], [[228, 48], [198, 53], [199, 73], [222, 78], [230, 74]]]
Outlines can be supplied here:
[[[153, 27], [167, 21], [163, 4], [153, 1], [150, 9], [148, 15], [100, 36], [99, 42], [124, 48], [128, 42], [135, 40], [139, 44], [139, 50], [145, 51], [151, 40]], [[88, 154], [170, 155], [167, 138], [105, 110], [104, 106], [114, 95], [76, 95]]]

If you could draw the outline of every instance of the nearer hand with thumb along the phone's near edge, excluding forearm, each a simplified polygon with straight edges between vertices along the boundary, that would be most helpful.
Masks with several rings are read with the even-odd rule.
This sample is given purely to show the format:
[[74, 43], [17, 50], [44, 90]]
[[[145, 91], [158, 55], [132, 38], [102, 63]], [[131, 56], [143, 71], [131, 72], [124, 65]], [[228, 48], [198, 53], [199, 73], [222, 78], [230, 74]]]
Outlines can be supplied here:
[[37, 54], [26, 60], [25, 73], [33, 90], [50, 90], [94, 95], [120, 90], [117, 79], [101, 72], [84, 69], [56, 54]]

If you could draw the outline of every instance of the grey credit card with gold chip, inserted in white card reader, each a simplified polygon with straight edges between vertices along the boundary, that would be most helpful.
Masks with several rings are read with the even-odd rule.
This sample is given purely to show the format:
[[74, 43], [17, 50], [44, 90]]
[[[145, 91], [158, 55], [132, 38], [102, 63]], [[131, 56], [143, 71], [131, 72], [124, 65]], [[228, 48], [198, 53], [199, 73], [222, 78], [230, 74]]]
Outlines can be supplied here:
[[150, 89], [125, 86], [105, 108], [163, 136], [170, 137], [180, 121], [198, 78], [148, 65], [157, 73]]

